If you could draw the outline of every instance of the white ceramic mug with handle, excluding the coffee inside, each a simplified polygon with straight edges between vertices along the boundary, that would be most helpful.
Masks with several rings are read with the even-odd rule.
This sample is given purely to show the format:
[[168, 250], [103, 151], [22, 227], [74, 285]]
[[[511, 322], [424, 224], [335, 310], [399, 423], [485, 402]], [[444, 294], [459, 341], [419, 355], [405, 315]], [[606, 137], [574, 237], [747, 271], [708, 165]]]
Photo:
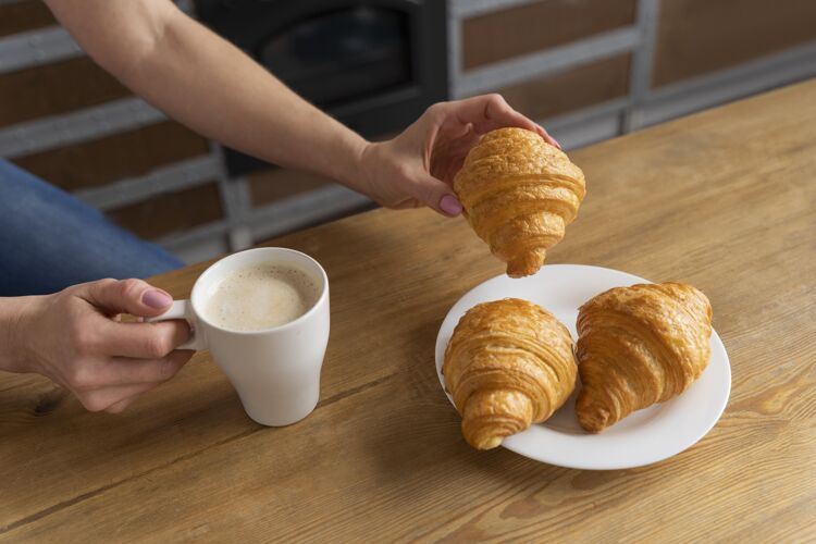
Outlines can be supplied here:
[[[260, 262], [307, 274], [318, 288], [317, 302], [294, 321], [262, 331], [232, 331], [207, 321], [201, 309], [218, 280]], [[191, 336], [178, 349], [209, 349], [238, 392], [247, 415], [258, 423], [288, 425], [317, 406], [320, 369], [329, 343], [329, 279], [308, 255], [264, 247], [225, 257], [196, 280], [189, 300], [176, 300], [170, 310], [151, 321], [169, 319], [187, 320]]]

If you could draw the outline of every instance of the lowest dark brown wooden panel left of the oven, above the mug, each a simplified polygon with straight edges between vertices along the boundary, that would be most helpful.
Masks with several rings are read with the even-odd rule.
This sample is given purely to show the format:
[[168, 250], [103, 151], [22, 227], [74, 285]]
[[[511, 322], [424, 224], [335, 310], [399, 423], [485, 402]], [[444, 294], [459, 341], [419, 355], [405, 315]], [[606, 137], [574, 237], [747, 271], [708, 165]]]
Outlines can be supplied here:
[[108, 212], [113, 221], [148, 239], [217, 221], [222, 214], [214, 183], [159, 195]]

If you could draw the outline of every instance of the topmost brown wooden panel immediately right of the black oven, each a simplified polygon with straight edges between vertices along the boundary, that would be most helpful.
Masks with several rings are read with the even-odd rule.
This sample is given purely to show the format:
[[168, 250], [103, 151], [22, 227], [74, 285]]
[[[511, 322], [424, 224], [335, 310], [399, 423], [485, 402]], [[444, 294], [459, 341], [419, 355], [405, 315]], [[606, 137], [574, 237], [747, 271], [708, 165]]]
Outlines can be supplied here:
[[544, 0], [462, 21], [462, 69], [634, 23], [635, 0]]

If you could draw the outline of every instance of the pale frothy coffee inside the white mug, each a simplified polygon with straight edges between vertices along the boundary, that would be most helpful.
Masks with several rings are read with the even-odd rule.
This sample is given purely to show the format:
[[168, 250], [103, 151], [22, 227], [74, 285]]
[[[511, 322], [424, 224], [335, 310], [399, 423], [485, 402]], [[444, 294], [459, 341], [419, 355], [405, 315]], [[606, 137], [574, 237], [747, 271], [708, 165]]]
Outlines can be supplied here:
[[318, 295], [318, 286], [301, 270], [259, 262], [220, 277], [201, 313], [223, 329], [262, 331], [295, 321], [314, 306]]

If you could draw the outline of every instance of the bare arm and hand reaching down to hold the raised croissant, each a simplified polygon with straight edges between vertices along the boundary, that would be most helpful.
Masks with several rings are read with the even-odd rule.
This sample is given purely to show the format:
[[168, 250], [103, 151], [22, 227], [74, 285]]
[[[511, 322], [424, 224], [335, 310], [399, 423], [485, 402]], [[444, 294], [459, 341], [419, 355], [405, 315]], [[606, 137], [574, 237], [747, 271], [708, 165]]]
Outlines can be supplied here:
[[397, 138], [370, 144], [169, 0], [47, 2], [103, 69], [194, 131], [392, 208], [426, 205], [457, 215], [450, 173], [492, 128], [521, 126], [557, 145], [498, 95], [434, 104]]

